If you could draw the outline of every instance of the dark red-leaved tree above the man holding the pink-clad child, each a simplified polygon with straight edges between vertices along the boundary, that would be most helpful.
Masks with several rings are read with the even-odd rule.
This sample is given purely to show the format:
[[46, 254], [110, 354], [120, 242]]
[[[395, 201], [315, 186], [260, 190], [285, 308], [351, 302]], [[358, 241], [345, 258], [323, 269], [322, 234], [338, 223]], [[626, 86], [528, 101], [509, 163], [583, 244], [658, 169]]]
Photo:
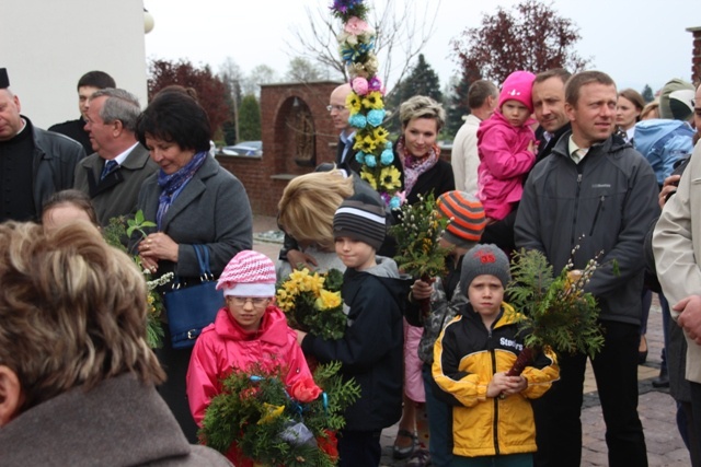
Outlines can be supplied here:
[[575, 51], [579, 38], [579, 28], [552, 2], [524, 0], [512, 10], [498, 7], [495, 14], [483, 14], [482, 25], [463, 31], [452, 46], [463, 72], [480, 70], [479, 78], [501, 84], [516, 70], [583, 70], [589, 60]]

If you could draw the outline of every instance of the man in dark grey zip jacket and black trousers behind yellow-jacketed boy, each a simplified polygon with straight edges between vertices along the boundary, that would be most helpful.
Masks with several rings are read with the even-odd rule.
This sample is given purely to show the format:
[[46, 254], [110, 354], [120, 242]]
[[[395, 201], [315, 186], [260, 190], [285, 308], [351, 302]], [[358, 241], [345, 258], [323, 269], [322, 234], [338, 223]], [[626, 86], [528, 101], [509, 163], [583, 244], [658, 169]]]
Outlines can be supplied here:
[[[598, 300], [604, 349], [591, 360], [606, 421], [609, 465], [646, 466], [637, 416], [637, 341], [643, 240], [658, 213], [652, 167], [630, 144], [611, 137], [616, 84], [585, 71], [565, 87], [572, 132], [536, 165], [516, 219], [519, 248], [543, 252], [555, 271], [572, 260], [601, 266], [586, 289]], [[576, 248], [575, 248], [576, 247]], [[578, 466], [587, 357], [561, 353], [561, 380], [535, 405], [537, 465]]]

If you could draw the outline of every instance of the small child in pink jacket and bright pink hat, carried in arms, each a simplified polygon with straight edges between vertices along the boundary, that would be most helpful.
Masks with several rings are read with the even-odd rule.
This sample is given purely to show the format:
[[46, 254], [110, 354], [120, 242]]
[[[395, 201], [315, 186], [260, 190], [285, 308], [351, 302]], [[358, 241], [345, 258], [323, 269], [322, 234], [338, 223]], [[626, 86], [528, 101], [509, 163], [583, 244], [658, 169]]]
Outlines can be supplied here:
[[536, 75], [515, 71], [506, 78], [496, 112], [478, 130], [478, 198], [487, 223], [501, 221], [520, 201], [524, 176], [536, 163], [531, 86]]

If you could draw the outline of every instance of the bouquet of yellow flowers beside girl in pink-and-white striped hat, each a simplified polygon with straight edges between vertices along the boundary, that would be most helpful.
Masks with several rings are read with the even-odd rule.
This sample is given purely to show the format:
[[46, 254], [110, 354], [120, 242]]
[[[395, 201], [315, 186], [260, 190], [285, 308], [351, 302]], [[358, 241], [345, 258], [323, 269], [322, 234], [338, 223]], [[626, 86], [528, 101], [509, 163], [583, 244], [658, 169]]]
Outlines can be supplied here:
[[341, 287], [343, 273], [292, 271], [277, 284], [277, 306], [287, 315], [289, 325], [323, 339], [341, 339], [346, 328]]

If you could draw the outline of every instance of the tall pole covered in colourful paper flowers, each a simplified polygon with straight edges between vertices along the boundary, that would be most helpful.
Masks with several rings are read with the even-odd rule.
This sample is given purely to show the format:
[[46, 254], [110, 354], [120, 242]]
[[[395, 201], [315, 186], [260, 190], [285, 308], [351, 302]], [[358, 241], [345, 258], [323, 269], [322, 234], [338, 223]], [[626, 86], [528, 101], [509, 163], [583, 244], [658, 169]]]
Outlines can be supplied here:
[[398, 208], [402, 197], [400, 172], [394, 163], [389, 133], [382, 128], [384, 87], [377, 77], [379, 62], [375, 55], [376, 31], [367, 23], [367, 7], [363, 0], [335, 0], [331, 11], [343, 22], [337, 36], [341, 58], [350, 75], [353, 92], [346, 100], [350, 110], [349, 125], [356, 129], [353, 150], [361, 164], [360, 177], [378, 190], [384, 202]]

